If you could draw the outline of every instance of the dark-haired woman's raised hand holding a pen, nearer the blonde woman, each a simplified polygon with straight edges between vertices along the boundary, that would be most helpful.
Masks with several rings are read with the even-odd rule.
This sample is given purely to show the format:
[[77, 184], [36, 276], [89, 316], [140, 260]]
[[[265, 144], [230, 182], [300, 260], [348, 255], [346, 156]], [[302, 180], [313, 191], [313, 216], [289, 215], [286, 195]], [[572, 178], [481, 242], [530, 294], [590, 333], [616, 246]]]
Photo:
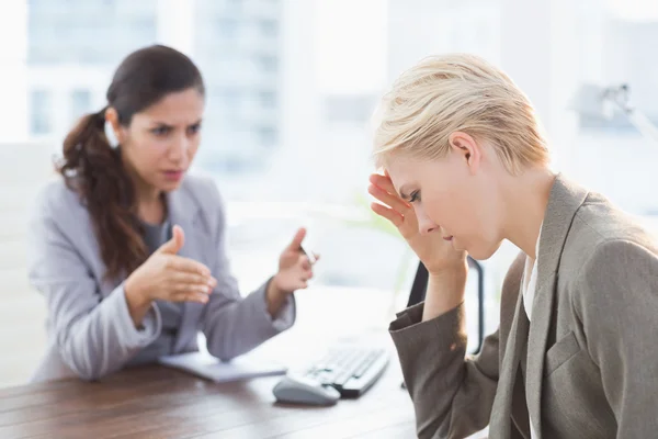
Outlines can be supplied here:
[[[305, 236], [306, 229], [299, 228], [279, 258], [279, 272], [272, 278], [268, 289], [268, 308], [272, 315], [279, 312], [288, 295], [307, 288], [313, 278], [313, 264], [302, 249]], [[314, 254], [314, 257], [316, 261], [319, 259], [319, 255]]]

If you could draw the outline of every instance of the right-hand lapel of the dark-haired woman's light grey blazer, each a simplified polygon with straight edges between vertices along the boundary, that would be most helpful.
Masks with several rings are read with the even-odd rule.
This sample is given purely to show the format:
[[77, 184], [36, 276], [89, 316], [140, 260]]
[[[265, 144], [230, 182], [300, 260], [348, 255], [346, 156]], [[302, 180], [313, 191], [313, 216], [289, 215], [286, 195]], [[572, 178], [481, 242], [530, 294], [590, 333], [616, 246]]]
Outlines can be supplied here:
[[[169, 210], [169, 219], [171, 225], [179, 225], [185, 233], [185, 244], [179, 251], [179, 256], [205, 261], [206, 255], [203, 251], [204, 237], [198, 232], [198, 222], [201, 219], [201, 207], [195, 200], [185, 191], [183, 185], [177, 191], [167, 194], [167, 207]], [[195, 302], [183, 303], [183, 315], [179, 328], [173, 351], [178, 352], [188, 345], [190, 338], [196, 335], [197, 315], [203, 309], [203, 304]]]

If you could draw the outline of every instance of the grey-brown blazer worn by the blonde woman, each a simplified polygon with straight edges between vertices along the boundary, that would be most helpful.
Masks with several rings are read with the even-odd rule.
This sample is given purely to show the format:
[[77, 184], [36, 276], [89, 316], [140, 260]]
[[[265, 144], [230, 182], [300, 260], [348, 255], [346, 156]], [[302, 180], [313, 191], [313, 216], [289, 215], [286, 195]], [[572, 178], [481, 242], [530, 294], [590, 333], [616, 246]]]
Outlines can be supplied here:
[[532, 323], [520, 293], [525, 255], [502, 286], [500, 326], [465, 356], [464, 307], [390, 334], [420, 438], [655, 438], [658, 435], [658, 245], [601, 195], [556, 179], [541, 233]]

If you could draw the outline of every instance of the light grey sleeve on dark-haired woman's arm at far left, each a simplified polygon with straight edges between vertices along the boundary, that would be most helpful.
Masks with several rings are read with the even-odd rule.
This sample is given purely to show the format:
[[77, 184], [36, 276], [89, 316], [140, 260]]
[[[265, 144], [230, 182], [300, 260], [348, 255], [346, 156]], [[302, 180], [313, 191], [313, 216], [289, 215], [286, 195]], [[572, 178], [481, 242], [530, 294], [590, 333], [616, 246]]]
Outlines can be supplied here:
[[88, 261], [60, 226], [61, 206], [45, 191], [30, 221], [29, 278], [46, 299], [50, 338], [63, 361], [81, 379], [97, 380], [121, 369], [160, 333], [155, 307], [137, 329], [118, 285], [102, 297]]

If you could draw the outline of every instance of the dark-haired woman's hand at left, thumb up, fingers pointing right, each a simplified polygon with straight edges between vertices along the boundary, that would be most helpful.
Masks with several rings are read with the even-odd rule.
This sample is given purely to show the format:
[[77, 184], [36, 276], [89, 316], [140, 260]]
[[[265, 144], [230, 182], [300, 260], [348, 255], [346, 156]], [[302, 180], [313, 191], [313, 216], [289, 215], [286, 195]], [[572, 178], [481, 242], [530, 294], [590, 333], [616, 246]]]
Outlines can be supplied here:
[[140, 311], [146, 313], [156, 299], [207, 303], [208, 294], [217, 284], [206, 266], [177, 255], [185, 240], [183, 229], [173, 226], [172, 234], [169, 241], [126, 279], [124, 290], [128, 304], [133, 305], [134, 313], [131, 314], [134, 319], [140, 322], [144, 318]]

